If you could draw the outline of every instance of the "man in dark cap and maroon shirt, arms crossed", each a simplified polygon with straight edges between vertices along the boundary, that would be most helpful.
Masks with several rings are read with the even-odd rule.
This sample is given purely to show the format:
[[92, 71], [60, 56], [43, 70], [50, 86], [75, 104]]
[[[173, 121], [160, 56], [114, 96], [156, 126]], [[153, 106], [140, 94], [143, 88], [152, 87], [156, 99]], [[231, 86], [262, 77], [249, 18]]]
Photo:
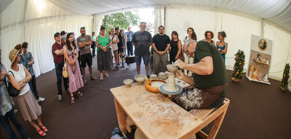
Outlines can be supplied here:
[[[62, 101], [62, 77], [63, 77], [63, 64], [64, 64], [64, 54], [63, 54], [63, 45], [66, 45], [64, 42], [61, 42], [61, 35], [59, 32], [55, 33], [55, 43], [52, 47], [52, 53], [55, 63], [55, 74], [57, 76], [57, 87], [58, 87], [58, 100]], [[63, 77], [64, 87], [67, 92], [69, 91], [68, 78]]]

